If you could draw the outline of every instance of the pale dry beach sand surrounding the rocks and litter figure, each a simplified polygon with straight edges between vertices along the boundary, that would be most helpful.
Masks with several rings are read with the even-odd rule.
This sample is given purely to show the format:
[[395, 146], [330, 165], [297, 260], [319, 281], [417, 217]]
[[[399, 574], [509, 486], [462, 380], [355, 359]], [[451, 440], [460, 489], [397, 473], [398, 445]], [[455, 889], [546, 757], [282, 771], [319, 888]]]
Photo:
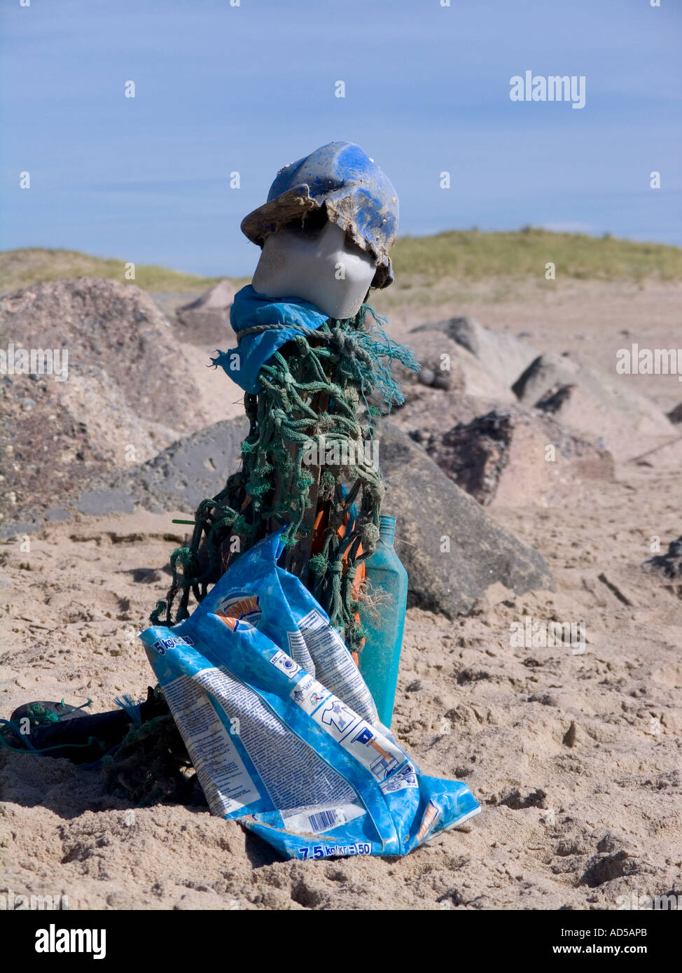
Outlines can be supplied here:
[[[624, 329], [673, 343], [679, 296], [586, 283], [538, 303], [393, 314], [398, 337], [466, 312], [542, 350], [582, 341], [611, 368]], [[215, 417], [233, 414], [238, 395], [201, 373], [197, 348], [191, 366]], [[674, 379], [631, 380], [666, 409], [682, 400]], [[406, 858], [283, 862], [205, 807], [132, 810], [96, 771], [5, 754], [0, 886], [65, 894], [71, 909], [617, 909], [633, 893], [682, 895], [682, 581], [640, 569], [653, 535], [682, 532], [680, 454], [649, 462], [618, 464], [578, 508], [491, 510], [542, 552], [554, 592], [490, 589], [455, 622], [408, 612], [393, 730], [424, 772], [471, 787], [483, 811], [464, 828]], [[106, 709], [154, 681], [134, 633], [167, 587], [174, 516], [81, 517], [28, 552], [0, 547], [0, 714], [62, 697]], [[585, 654], [511, 646], [524, 615], [585, 620]]]

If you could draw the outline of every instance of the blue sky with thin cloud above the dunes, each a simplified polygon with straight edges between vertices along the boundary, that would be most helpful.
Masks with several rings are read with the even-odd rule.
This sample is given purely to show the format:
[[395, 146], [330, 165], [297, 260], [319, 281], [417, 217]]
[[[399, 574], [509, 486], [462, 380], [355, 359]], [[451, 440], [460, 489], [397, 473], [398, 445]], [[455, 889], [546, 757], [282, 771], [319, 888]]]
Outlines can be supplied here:
[[[247, 274], [242, 216], [335, 139], [386, 171], [403, 234], [682, 244], [682, 0], [450, 2], [3, 0], [0, 248]], [[511, 101], [525, 70], [585, 75], [585, 108]]]

